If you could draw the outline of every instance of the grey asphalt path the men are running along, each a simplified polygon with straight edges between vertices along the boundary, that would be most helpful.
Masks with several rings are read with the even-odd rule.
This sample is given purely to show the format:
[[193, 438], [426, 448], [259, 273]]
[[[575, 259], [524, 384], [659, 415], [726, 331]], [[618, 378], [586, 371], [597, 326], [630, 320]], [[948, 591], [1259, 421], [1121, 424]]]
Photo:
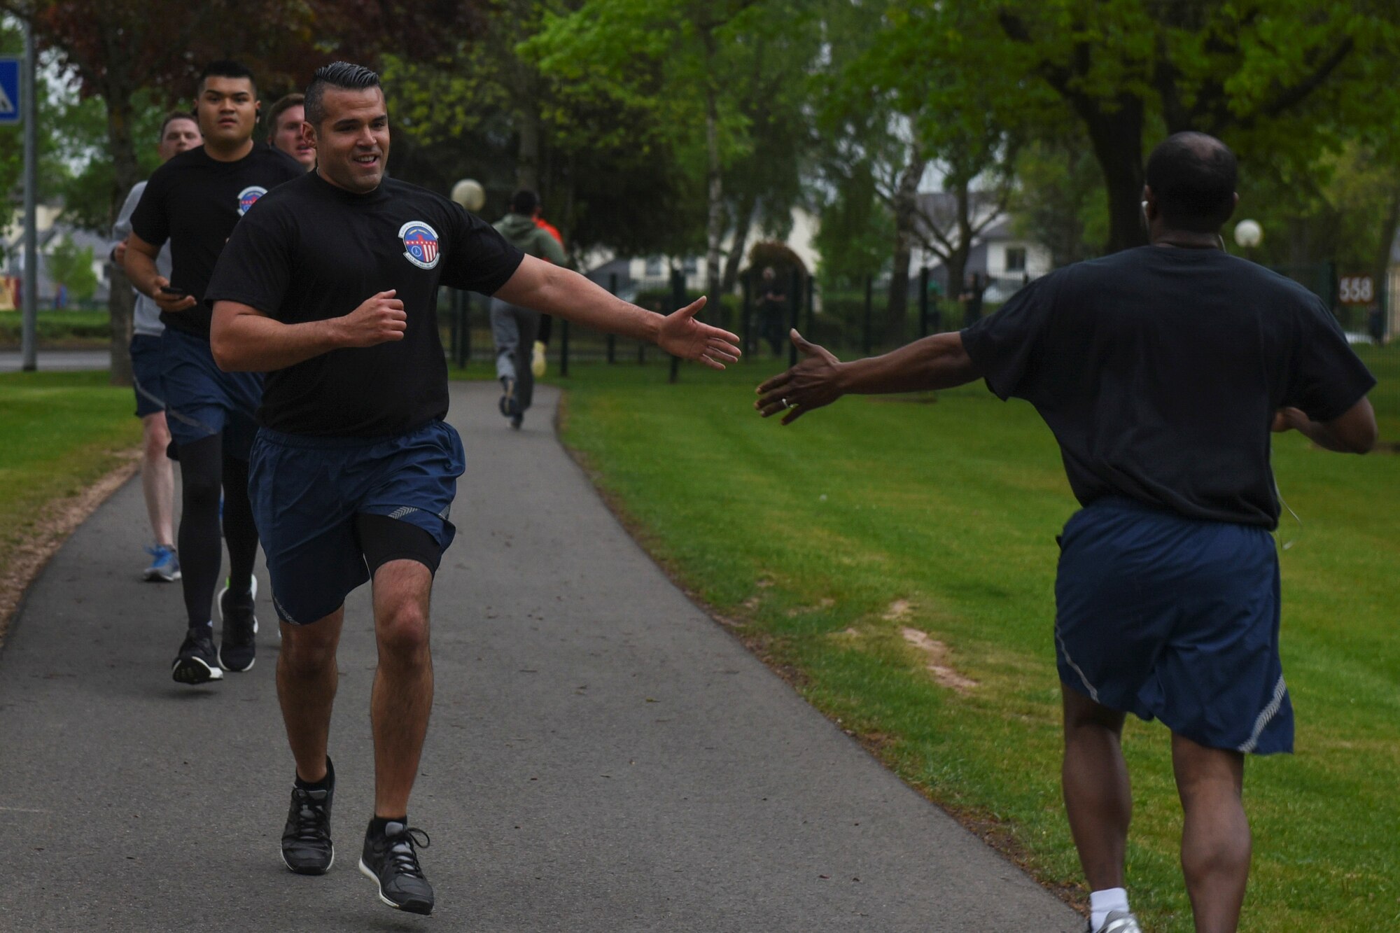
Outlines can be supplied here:
[[381, 905], [356, 870], [367, 588], [340, 647], [336, 862], [300, 877], [279, 859], [293, 763], [267, 587], [256, 667], [174, 684], [179, 591], [137, 581], [132, 482], [48, 566], [0, 656], [0, 929], [1084, 929], [676, 591], [561, 450], [557, 392], [536, 399], [517, 434], [494, 385], [454, 387], [468, 475], [409, 814], [433, 836], [433, 918]]

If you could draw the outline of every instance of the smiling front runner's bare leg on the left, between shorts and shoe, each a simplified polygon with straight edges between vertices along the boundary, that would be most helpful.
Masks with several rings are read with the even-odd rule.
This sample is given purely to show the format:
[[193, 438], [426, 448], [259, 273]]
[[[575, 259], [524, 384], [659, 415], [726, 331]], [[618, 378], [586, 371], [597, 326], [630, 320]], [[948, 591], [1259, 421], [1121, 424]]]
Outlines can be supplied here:
[[287, 726], [287, 744], [297, 759], [297, 776], [316, 783], [326, 776], [330, 707], [336, 699], [336, 646], [346, 608], [311, 625], [281, 623], [277, 657], [277, 700]]

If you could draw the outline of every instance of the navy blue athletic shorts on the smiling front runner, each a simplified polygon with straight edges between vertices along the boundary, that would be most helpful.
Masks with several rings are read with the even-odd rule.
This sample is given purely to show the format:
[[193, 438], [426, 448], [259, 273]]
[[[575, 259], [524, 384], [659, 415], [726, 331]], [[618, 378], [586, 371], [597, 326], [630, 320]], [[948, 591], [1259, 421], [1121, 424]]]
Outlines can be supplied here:
[[258, 431], [248, 497], [267, 556], [277, 615], [305, 625], [335, 612], [370, 579], [357, 514], [386, 516], [427, 531], [442, 551], [462, 438], [444, 422], [398, 437], [308, 437]]

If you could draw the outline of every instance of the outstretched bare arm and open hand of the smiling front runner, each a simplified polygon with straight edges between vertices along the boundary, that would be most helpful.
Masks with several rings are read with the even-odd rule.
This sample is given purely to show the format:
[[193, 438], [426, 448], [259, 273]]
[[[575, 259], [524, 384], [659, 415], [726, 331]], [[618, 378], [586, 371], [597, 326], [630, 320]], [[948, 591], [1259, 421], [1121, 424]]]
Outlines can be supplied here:
[[672, 356], [699, 360], [715, 370], [739, 359], [736, 335], [694, 319], [706, 305], [704, 298], [661, 315], [609, 294], [577, 272], [533, 256], [521, 261], [494, 297], [608, 333], [647, 340]]

